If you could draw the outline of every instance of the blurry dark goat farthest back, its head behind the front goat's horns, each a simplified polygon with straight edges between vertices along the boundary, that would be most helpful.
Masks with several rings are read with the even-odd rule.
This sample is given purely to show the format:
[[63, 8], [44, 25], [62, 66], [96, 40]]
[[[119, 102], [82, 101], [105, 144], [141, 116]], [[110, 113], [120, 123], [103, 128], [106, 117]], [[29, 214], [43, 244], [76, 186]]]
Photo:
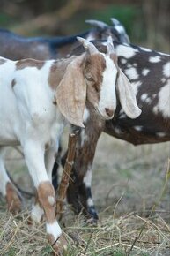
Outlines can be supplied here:
[[86, 20], [92, 26], [92, 29], [72, 36], [55, 36], [47, 37], [24, 37], [14, 34], [8, 30], [0, 29], [0, 56], [18, 60], [27, 57], [38, 60], [55, 59], [70, 54], [70, 50], [74, 49], [78, 42], [77, 36], [81, 36], [88, 41], [90, 40], [107, 40], [108, 36], [112, 36], [115, 41], [127, 42], [129, 37], [125, 32], [122, 24], [112, 18], [112, 26], [99, 20]]

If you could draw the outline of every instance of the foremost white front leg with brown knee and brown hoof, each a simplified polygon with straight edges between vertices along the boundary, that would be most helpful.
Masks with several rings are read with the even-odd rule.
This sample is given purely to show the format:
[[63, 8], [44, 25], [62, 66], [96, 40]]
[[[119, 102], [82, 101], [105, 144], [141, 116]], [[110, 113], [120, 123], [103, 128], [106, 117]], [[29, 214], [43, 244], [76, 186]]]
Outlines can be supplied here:
[[38, 142], [29, 140], [24, 145], [24, 154], [38, 200], [46, 216], [48, 242], [54, 246], [55, 251], [60, 255], [61, 247], [63, 249], [65, 246], [65, 240], [55, 218], [55, 190], [45, 167], [45, 149]]

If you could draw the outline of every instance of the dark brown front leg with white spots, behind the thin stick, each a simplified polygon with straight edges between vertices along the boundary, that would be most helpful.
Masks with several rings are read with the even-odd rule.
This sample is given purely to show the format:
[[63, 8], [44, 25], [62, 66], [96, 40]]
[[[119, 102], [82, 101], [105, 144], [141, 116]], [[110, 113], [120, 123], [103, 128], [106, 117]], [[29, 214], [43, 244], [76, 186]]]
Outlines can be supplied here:
[[85, 124], [78, 137], [78, 147], [72, 171], [67, 197], [77, 213], [89, 216], [92, 222], [97, 222], [98, 215], [92, 200], [92, 162], [98, 139], [103, 130], [104, 121], [92, 127], [92, 120]]

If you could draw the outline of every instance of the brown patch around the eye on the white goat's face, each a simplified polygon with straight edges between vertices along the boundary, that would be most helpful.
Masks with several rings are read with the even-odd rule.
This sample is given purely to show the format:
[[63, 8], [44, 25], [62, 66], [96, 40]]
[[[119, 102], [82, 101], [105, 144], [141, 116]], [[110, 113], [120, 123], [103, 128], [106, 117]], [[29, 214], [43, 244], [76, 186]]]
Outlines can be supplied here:
[[106, 61], [101, 54], [87, 56], [85, 59], [84, 76], [87, 84], [87, 100], [93, 105], [100, 101], [100, 87], [103, 72], [106, 69]]

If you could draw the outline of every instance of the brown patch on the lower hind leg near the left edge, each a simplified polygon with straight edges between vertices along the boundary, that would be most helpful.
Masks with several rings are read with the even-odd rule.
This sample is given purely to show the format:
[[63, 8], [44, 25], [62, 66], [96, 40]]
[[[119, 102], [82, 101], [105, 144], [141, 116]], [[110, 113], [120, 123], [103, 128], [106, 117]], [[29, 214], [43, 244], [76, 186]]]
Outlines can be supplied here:
[[21, 202], [18, 198], [18, 193], [15, 191], [10, 182], [6, 184], [6, 200], [8, 204], [8, 210], [13, 215], [16, 215], [20, 211]]

